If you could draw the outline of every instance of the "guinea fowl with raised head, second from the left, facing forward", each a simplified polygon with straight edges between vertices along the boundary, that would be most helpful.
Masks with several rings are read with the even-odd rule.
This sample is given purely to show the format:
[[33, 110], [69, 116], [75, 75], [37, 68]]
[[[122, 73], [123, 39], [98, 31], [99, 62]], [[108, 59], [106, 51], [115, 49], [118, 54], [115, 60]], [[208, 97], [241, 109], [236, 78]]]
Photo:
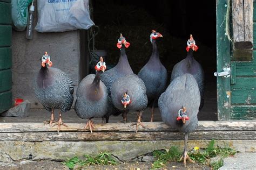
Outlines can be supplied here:
[[77, 100], [75, 103], [75, 111], [80, 118], [89, 119], [85, 125], [85, 130], [89, 127], [91, 133], [93, 126], [93, 117], [103, 117], [107, 113], [109, 101], [107, 98], [107, 88], [100, 81], [100, 74], [106, 69], [103, 58], [95, 66], [96, 74], [87, 75], [78, 85]]

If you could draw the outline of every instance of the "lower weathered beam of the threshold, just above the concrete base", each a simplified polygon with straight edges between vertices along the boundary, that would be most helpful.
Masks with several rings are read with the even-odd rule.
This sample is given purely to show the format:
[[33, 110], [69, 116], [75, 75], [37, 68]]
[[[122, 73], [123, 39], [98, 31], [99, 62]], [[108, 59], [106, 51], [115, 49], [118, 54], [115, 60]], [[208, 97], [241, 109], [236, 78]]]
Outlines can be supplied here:
[[[0, 141], [145, 141], [183, 140], [184, 134], [177, 131], [135, 132], [12, 132], [0, 133]], [[195, 131], [191, 140], [255, 140], [255, 131]]]

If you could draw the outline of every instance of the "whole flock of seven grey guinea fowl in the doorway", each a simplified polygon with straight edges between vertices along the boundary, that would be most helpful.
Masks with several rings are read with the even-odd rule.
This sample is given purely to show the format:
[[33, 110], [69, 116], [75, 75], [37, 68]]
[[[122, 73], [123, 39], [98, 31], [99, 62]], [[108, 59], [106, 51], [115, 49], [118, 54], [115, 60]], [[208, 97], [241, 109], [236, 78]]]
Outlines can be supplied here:
[[[95, 129], [92, 118], [102, 117], [106, 123], [111, 115], [122, 114], [124, 123], [127, 113], [138, 112], [136, 133], [142, 123], [143, 110], [148, 101], [152, 101], [151, 122], [153, 122], [154, 107], [158, 104], [161, 118], [167, 125], [185, 133], [183, 156], [193, 162], [187, 154], [188, 133], [197, 129], [197, 114], [203, 107], [204, 71], [199, 62], [193, 58], [193, 52], [198, 46], [192, 35], [187, 40], [187, 56], [176, 63], [171, 74], [171, 82], [167, 84], [167, 70], [159, 60], [156, 41], [163, 37], [152, 30], [150, 41], [152, 55], [146, 65], [134, 74], [125, 48], [130, 46], [125, 37], [120, 34], [117, 47], [120, 57], [117, 65], [106, 70], [106, 63], [100, 57], [95, 66], [96, 74], [89, 74], [78, 84], [75, 111], [80, 118], [88, 119], [87, 128]], [[51, 111], [50, 126], [56, 124], [67, 126], [62, 122], [62, 113], [71, 109], [73, 103], [73, 82], [62, 70], [53, 68], [47, 52], [42, 56], [41, 69], [35, 83], [35, 95], [43, 107]], [[59, 109], [59, 119], [55, 121], [54, 109]]]

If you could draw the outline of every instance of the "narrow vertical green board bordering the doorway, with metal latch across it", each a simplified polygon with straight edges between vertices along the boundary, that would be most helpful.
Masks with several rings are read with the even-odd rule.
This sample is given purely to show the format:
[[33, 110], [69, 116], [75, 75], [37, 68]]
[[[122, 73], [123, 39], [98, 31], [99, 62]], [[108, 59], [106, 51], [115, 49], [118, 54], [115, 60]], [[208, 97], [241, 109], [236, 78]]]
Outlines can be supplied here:
[[[217, 32], [217, 72], [230, 68], [230, 41], [225, 35], [225, 23], [228, 0], [216, 0], [216, 32]], [[218, 120], [230, 120], [230, 77], [217, 77], [217, 107]]]

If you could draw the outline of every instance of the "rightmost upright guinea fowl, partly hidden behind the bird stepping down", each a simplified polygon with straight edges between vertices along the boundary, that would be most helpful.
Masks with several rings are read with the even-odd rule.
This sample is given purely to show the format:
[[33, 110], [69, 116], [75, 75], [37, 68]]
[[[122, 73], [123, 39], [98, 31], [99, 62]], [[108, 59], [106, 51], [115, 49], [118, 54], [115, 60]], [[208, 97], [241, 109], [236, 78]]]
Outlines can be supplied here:
[[196, 41], [194, 41], [192, 35], [190, 35], [190, 39], [187, 40], [186, 47], [187, 57], [174, 65], [171, 81], [185, 73], [192, 74], [194, 79], [196, 79], [200, 90], [201, 102], [199, 110], [201, 110], [204, 106], [204, 70], [200, 63], [193, 57], [193, 51], [197, 51], [197, 49], [198, 46], [196, 45]]

